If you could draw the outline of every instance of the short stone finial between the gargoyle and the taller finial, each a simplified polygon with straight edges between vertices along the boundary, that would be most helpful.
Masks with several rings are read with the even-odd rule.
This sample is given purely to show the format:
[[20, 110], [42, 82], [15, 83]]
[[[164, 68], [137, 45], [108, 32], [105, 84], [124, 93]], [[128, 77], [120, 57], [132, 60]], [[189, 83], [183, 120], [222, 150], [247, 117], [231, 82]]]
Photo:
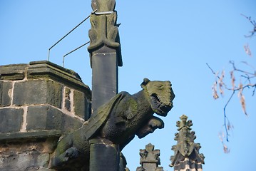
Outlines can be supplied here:
[[145, 149], [140, 149], [140, 164], [136, 171], [163, 171], [160, 165], [160, 150], [155, 150], [155, 146], [149, 143]]

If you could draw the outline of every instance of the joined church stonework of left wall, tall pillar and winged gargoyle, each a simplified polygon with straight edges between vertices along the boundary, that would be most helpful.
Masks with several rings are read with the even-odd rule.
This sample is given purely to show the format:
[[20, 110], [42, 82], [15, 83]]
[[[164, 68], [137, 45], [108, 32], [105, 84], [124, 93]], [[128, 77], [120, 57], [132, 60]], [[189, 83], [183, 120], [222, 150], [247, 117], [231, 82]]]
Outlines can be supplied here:
[[118, 93], [116, 1], [91, 4], [92, 90], [49, 61], [0, 66], [0, 170], [128, 170], [121, 150], [164, 127], [154, 113], [165, 117], [173, 108], [172, 84], [144, 78], [138, 93]]

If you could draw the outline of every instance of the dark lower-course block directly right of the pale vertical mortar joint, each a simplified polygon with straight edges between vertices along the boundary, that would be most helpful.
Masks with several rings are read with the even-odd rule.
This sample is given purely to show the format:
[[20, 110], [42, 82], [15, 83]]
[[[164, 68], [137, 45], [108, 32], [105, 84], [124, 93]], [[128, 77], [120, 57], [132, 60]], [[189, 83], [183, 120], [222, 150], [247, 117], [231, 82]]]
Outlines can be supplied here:
[[29, 106], [26, 130], [61, 130], [63, 113], [50, 105]]

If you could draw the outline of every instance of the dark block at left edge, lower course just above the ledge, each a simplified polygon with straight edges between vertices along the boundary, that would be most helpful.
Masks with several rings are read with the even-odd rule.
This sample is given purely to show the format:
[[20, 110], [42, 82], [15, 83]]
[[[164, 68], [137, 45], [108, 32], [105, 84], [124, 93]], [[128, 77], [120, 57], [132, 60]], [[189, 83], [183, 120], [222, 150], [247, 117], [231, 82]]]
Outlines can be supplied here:
[[23, 109], [1, 108], [0, 109], [0, 133], [11, 133], [21, 129]]

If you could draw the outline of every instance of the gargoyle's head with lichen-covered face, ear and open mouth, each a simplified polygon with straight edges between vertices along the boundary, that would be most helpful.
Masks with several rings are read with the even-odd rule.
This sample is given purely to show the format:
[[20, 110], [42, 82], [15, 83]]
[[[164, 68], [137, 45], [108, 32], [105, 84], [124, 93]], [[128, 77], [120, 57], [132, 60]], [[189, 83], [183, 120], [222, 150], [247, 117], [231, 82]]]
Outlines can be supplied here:
[[173, 108], [173, 98], [175, 98], [170, 81], [150, 81], [144, 78], [140, 86], [148, 94], [153, 111], [158, 115], [166, 116]]

